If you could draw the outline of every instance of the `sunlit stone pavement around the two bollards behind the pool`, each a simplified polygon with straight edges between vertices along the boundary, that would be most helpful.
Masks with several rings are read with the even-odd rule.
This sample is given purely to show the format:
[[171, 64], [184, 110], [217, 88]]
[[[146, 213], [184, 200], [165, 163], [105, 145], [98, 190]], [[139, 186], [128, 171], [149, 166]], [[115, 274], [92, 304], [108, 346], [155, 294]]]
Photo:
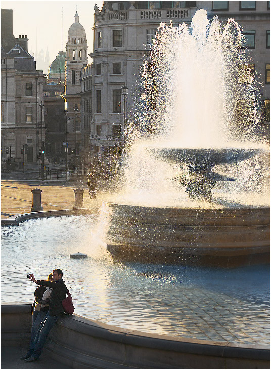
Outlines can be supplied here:
[[[29, 165], [30, 167], [30, 165]], [[98, 182], [96, 199], [88, 198], [87, 181], [75, 180], [48, 180], [44, 182], [38, 178], [38, 165], [25, 170], [14, 170], [1, 174], [1, 218], [7, 218], [21, 213], [31, 212], [32, 189], [42, 190], [41, 205], [43, 211], [57, 209], [72, 209], [74, 206], [74, 189], [84, 189], [84, 207], [98, 209], [101, 200], [107, 200], [115, 193], [115, 184], [110, 182]], [[56, 168], [56, 165], [54, 165]]]

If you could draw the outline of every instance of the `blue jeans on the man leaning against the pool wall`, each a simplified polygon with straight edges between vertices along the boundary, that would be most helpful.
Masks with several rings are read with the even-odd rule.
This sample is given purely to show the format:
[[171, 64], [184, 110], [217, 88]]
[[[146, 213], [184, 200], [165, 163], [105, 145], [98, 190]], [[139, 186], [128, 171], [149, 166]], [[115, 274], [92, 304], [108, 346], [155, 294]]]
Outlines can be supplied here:
[[48, 312], [43, 318], [39, 329], [37, 331], [36, 337], [33, 343], [30, 344], [30, 349], [28, 354], [31, 354], [32, 357], [39, 358], [42, 348], [46, 342], [48, 333], [53, 328], [57, 320], [60, 318], [60, 315], [49, 316]]

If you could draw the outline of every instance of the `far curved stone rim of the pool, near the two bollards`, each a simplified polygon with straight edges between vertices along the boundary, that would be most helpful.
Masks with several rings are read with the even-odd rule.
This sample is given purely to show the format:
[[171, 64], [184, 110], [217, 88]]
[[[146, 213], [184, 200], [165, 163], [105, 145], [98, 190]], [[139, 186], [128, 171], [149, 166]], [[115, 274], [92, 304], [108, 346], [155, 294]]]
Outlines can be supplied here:
[[42, 218], [42, 217], [55, 217], [55, 216], [73, 216], [73, 215], [84, 215], [84, 214], [98, 214], [99, 210], [92, 208], [74, 208], [74, 209], [56, 209], [53, 211], [40, 211], [40, 212], [30, 212], [22, 213], [15, 216], [8, 217], [1, 220], [1, 225], [3, 226], [18, 226], [20, 222], [32, 219], [32, 218]]

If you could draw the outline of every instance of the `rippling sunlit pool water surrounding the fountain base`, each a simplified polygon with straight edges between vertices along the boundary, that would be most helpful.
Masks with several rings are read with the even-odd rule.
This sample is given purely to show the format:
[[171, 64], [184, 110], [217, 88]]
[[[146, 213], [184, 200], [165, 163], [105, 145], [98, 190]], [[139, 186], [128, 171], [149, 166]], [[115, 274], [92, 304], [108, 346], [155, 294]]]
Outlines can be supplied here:
[[[268, 345], [269, 265], [218, 268], [120, 264], [91, 242], [97, 215], [28, 220], [1, 229], [1, 300], [33, 301], [61, 268], [75, 313], [131, 330]], [[70, 253], [85, 252], [76, 260]]]

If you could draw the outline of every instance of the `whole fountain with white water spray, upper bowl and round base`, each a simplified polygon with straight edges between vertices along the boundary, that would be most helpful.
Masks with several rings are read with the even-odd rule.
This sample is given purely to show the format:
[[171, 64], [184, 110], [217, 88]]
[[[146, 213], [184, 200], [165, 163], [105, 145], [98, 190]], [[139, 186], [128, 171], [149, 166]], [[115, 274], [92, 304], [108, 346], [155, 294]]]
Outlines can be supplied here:
[[[97, 234], [113, 258], [223, 267], [269, 261], [269, 207], [259, 200], [266, 148], [251, 140], [259, 117], [245, 58], [234, 19], [222, 28], [201, 9], [191, 29], [161, 24], [143, 70], [143, 108], [131, 124], [129, 192], [101, 210]], [[226, 173], [213, 172], [217, 165]], [[249, 193], [242, 187], [252, 172]]]

